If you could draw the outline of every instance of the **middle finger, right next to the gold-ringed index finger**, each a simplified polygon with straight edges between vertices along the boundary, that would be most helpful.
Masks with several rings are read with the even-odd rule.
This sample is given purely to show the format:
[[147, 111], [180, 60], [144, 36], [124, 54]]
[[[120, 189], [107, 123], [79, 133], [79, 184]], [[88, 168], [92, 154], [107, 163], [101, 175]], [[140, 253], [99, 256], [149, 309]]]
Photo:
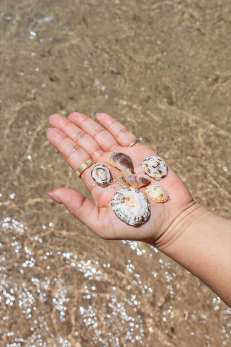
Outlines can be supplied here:
[[75, 143], [84, 148], [95, 162], [104, 153], [98, 143], [89, 134], [81, 130], [61, 114], [53, 114], [50, 116], [49, 123], [52, 127], [62, 130], [63, 133], [70, 137]]

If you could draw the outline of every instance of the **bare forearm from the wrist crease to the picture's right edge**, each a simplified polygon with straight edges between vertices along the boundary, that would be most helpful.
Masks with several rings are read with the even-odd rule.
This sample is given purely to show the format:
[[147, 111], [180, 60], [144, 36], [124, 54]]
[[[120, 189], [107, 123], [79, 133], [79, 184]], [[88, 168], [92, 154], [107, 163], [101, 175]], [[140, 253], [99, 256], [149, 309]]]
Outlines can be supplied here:
[[157, 247], [231, 305], [231, 223], [194, 204], [172, 223]]

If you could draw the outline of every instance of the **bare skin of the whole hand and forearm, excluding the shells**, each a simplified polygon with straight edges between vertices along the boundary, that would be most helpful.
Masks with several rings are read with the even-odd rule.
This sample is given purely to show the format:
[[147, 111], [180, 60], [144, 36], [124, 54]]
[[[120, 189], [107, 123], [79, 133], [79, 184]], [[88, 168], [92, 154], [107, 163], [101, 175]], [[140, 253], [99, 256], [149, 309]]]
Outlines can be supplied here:
[[[103, 239], [129, 239], [157, 247], [192, 274], [205, 282], [226, 304], [231, 305], [231, 223], [196, 203], [178, 175], [169, 167], [167, 176], [151, 184], [165, 188], [169, 200], [157, 203], [149, 199], [151, 214], [139, 226], [127, 225], [116, 217], [111, 198], [122, 188], [117, 183], [98, 186], [91, 177], [96, 164], [106, 165], [114, 177], [121, 174], [111, 167], [111, 152], [123, 152], [132, 158], [136, 174], [143, 174], [142, 162], [148, 155], [158, 155], [141, 143], [128, 147], [136, 137], [106, 113], [97, 121], [78, 112], [68, 118], [60, 114], [49, 117], [52, 128], [46, 130], [50, 143], [63, 154], [76, 171], [88, 159], [94, 163], [81, 174], [93, 202], [81, 193], [58, 188], [48, 196]], [[140, 188], [144, 192], [145, 188]]]

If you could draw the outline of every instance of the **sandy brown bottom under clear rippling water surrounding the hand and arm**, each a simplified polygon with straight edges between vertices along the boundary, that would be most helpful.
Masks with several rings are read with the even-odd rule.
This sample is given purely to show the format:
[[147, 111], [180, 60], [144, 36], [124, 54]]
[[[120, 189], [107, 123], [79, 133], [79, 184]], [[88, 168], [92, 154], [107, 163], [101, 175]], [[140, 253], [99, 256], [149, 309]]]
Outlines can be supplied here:
[[1, 346], [230, 346], [230, 309], [157, 249], [45, 195], [86, 188], [45, 136], [107, 112], [230, 218], [230, 1], [1, 2]]

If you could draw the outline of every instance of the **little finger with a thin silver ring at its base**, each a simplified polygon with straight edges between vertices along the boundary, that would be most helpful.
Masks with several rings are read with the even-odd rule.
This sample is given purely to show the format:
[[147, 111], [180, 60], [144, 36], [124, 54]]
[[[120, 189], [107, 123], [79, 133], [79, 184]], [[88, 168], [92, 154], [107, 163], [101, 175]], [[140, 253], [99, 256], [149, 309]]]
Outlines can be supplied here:
[[[107, 113], [99, 113], [96, 119], [113, 135], [118, 144], [123, 147], [128, 147], [137, 139], [135, 135], [128, 131], [120, 122], [115, 120]], [[137, 145], [139, 145], [139, 142], [136, 144], [136, 146]]]

